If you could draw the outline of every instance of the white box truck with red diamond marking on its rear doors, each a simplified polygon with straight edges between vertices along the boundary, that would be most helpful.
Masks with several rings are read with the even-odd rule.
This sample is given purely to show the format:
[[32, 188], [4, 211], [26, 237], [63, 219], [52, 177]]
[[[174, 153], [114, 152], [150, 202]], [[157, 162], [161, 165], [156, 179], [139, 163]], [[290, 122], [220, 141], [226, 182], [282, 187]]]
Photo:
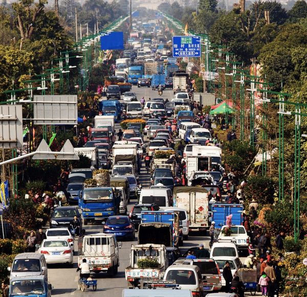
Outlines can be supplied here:
[[209, 228], [208, 191], [202, 187], [175, 187], [173, 206], [185, 209], [189, 218], [189, 232]]

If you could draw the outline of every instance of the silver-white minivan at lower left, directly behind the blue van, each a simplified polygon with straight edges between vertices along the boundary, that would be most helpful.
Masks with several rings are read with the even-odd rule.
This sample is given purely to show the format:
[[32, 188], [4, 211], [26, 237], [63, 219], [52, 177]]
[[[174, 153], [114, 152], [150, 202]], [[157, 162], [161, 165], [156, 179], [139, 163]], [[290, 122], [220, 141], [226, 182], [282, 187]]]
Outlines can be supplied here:
[[37, 253], [18, 254], [12, 267], [8, 267], [12, 277], [45, 276], [48, 280], [48, 269], [45, 256]]

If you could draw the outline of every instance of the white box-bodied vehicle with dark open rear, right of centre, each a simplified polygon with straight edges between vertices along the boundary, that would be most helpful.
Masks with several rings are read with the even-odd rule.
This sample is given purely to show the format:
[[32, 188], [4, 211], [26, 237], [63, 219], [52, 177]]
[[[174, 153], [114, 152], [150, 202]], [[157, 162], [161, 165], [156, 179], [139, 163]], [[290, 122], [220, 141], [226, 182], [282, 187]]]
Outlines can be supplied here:
[[211, 171], [212, 164], [221, 164], [221, 155], [222, 149], [217, 146], [193, 146], [186, 159], [187, 177], [195, 171]]

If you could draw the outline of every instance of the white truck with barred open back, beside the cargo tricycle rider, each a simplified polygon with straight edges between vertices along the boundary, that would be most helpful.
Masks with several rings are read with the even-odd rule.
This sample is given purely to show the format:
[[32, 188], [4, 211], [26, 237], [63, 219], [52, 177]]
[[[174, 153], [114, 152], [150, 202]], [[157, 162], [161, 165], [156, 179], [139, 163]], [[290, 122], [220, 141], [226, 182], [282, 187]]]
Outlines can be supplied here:
[[117, 242], [115, 235], [98, 233], [78, 239], [78, 266], [83, 259], [90, 265], [90, 270], [117, 275], [119, 267], [119, 249], [122, 243]]

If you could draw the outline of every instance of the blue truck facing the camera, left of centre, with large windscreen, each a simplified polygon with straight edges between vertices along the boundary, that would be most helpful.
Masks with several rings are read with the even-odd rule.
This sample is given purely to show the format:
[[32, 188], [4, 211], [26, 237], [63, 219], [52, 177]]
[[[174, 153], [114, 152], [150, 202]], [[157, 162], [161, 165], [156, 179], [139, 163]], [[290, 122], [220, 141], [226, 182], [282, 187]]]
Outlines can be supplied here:
[[95, 219], [105, 219], [119, 214], [120, 196], [111, 187], [84, 188], [78, 205], [82, 210], [84, 225]]

